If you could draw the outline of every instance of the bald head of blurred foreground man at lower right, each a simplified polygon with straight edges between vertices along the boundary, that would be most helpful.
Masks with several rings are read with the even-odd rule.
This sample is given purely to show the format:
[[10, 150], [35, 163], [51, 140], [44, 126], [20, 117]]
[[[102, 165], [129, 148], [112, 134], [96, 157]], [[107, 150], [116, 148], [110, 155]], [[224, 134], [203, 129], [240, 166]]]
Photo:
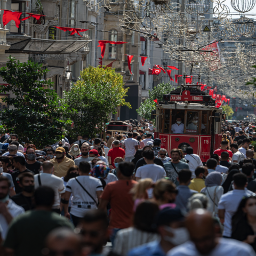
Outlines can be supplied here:
[[201, 254], [210, 253], [215, 247], [214, 221], [204, 209], [191, 211], [186, 219], [190, 239]]

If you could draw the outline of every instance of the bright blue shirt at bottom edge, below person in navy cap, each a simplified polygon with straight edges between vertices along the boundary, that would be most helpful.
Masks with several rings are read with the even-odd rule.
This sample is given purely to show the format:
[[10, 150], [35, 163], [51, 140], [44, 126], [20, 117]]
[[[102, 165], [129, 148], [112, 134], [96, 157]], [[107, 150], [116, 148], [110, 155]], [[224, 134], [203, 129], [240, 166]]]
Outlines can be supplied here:
[[143, 244], [130, 250], [127, 256], [166, 256], [159, 241]]

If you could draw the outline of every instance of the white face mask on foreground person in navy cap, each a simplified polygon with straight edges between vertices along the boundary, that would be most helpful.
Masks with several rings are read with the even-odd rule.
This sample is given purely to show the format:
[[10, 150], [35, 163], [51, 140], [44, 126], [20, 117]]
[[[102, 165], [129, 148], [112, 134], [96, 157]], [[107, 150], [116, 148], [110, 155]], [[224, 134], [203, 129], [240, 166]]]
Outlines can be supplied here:
[[166, 226], [164, 229], [173, 234], [173, 237], [165, 236], [164, 237], [165, 241], [168, 241], [175, 246], [189, 241], [189, 235], [186, 228], [170, 228]]

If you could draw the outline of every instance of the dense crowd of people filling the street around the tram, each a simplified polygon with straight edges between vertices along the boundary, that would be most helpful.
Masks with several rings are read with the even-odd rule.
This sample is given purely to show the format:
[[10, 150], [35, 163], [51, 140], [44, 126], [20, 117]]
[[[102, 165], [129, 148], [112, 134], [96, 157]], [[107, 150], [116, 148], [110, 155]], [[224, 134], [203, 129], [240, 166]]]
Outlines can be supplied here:
[[222, 123], [202, 163], [129, 122], [41, 149], [2, 134], [0, 255], [256, 256], [255, 125]]

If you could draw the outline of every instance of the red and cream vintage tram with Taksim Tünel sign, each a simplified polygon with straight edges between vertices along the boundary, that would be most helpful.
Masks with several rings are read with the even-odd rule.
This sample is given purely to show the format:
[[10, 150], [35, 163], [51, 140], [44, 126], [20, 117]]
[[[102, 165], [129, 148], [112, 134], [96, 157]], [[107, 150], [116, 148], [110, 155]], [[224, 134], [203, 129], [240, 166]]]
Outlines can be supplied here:
[[186, 154], [191, 146], [205, 163], [220, 147], [222, 108], [217, 108], [215, 100], [198, 85], [181, 85], [164, 94], [152, 114], [156, 119], [154, 138], [161, 139], [161, 147], [169, 155], [173, 148], [180, 148]]

